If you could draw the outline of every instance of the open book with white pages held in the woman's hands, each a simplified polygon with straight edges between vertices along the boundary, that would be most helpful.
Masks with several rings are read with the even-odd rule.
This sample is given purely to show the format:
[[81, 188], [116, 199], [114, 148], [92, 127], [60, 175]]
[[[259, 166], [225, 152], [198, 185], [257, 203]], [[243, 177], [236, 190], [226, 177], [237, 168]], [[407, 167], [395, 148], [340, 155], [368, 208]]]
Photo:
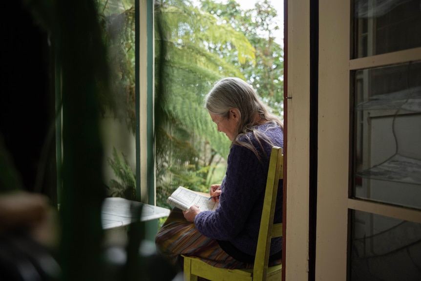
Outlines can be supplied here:
[[218, 202], [209, 200], [209, 195], [204, 195], [182, 186], [179, 186], [168, 197], [167, 203], [183, 211], [189, 210], [190, 206], [193, 205], [199, 206], [200, 211], [215, 211], [216, 207], [218, 207]]

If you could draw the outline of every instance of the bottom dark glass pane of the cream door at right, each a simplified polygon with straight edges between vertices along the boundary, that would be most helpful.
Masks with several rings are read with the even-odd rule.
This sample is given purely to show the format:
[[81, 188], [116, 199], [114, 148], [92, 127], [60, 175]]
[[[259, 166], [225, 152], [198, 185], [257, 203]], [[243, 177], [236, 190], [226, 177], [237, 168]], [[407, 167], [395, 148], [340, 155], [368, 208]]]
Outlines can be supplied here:
[[352, 212], [351, 281], [421, 280], [421, 224]]

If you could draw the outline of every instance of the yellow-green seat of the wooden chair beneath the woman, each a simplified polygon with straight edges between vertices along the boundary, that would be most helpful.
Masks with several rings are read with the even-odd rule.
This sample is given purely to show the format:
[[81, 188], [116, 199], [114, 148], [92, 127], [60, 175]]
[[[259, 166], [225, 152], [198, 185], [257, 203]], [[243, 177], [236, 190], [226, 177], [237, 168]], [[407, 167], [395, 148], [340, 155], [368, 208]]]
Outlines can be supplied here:
[[[185, 276], [185, 281], [197, 281], [197, 276], [211, 281], [253, 281], [253, 268], [250, 269], [227, 269], [213, 267], [201, 259], [184, 256], [184, 271], [196, 275], [195, 278]], [[282, 264], [268, 267], [267, 280], [280, 281], [279, 273], [282, 272]], [[273, 279], [271, 278], [273, 277]]]

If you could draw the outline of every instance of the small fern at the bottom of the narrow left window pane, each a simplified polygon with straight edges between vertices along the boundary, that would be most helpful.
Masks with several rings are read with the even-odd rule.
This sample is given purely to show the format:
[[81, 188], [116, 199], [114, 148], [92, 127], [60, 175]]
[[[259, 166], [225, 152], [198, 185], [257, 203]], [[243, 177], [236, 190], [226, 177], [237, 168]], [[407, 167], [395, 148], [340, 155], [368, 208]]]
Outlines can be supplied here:
[[122, 158], [113, 147], [112, 159], [107, 158], [107, 162], [113, 170], [115, 176], [120, 180], [111, 179], [109, 182], [109, 195], [111, 197], [123, 197], [129, 200], [136, 199], [136, 175], [131, 170], [127, 156], [122, 152]]

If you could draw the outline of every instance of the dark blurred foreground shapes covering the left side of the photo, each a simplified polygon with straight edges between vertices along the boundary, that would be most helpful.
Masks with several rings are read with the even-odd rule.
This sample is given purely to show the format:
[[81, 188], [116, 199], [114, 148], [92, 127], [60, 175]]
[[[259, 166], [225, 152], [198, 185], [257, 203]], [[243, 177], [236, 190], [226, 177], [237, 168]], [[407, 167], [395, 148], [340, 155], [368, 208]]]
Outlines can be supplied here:
[[[130, 225], [126, 245], [103, 243], [97, 85], [106, 92], [107, 67], [94, 4], [17, 0], [3, 6], [1, 281], [180, 278], [144, 239], [141, 222]], [[56, 167], [61, 113], [63, 166]]]

